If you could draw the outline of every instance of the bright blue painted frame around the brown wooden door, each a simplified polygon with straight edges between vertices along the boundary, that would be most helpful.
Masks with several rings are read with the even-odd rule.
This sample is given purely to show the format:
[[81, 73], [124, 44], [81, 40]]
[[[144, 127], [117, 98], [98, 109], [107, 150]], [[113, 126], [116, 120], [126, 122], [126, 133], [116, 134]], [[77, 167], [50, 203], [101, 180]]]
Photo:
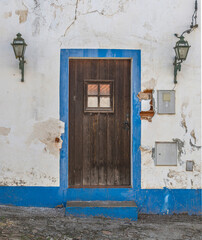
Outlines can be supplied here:
[[[131, 187], [128, 188], [69, 188], [68, 136], [69, 136], [69, 59], [130, 59], [131, 60]], [[60, 120], [65, 123], [60, 154], [60, 187], [67, 200], [130, 200], [134, 190], [141, 189], [141, 103], [137, 98], [141, 90], [141, 51], [122, 49], [61, 49], [60, 57]]]

